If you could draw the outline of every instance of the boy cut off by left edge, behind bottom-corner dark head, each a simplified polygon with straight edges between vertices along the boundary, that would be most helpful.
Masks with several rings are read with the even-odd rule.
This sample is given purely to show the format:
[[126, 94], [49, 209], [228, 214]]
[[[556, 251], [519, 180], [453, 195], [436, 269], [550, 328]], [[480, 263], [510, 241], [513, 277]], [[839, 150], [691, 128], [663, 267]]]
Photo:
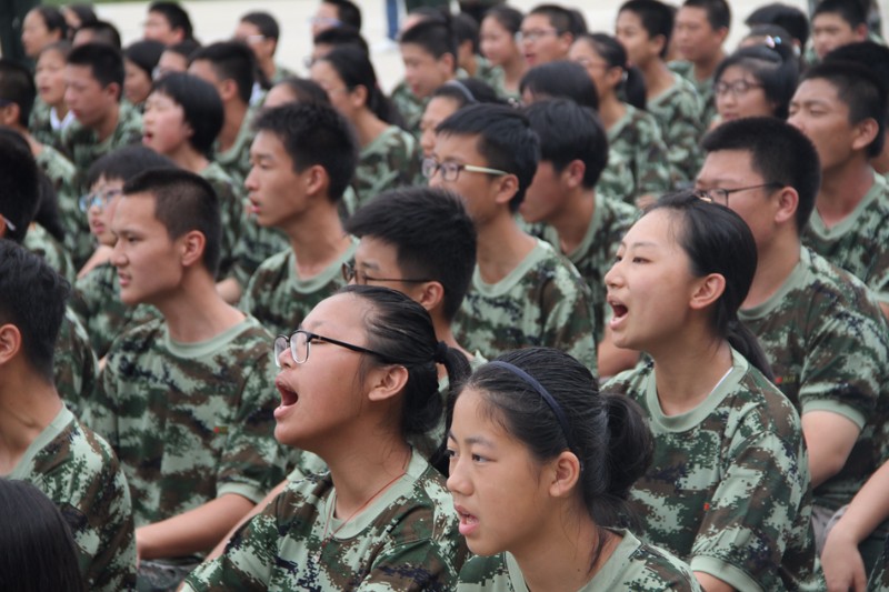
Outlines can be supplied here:
[[[132, 589], [127, 480], [111, 446], [64, 407], [53, 382], [68, 289], [39, 257], [0, 240], [0, 475], [32, 483], [62, 510], [84, 589]], [[4, 514], [7, 532], [11, 520]]]

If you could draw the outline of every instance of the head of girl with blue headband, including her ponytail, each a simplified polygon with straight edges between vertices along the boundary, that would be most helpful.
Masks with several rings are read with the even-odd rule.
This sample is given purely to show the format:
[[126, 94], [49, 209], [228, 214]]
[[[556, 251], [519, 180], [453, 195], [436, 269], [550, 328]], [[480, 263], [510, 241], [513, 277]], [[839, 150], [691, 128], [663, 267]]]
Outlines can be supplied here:
[[628, 513], [653, 439], [638, 405], [600, 393], [583, 364], [559, 350], [526, 348], [477, 369], [460, 388], [448, 453], [448, 489], [473, 553], [528, 549], [553, 523], [591, 521], [592, 566], [605, 529]]

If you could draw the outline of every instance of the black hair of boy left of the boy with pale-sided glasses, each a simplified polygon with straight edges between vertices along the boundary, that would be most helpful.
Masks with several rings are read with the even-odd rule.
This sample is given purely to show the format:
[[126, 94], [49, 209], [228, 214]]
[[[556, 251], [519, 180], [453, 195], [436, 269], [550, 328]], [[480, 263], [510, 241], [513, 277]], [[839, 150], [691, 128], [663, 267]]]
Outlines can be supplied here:
[[302, 172], [316, 164], [327, 172], [328, 198], [337, 202], [354, 177], [358, 140], [351, 123], [326, 104], [288, 103], [262, 111], [257, 131], [273, 133]]

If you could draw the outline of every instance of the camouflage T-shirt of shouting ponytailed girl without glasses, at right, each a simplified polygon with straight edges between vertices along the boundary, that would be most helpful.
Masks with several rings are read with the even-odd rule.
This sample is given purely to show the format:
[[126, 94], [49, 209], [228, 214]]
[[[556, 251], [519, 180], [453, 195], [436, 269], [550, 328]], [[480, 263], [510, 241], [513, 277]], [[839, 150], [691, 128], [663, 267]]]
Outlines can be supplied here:
[[647, 541], [737, 590], [823, 590], [809, 463], [792, 403], [738, 352], [697, 408], [666, 415], [653, 363], [603, 391], [642, 407], [655, 458], [630, 490]]

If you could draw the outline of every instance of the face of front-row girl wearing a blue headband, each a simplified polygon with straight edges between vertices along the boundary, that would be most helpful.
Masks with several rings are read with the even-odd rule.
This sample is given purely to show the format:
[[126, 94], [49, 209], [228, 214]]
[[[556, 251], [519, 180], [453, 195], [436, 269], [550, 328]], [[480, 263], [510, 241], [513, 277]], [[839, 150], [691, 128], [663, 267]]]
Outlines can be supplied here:
[[455, 404], [448, 433], [448, 490], [470, 551], [516, 553], [542, 530], [543, 468], [522, 442], [491, 420], [483, 397], [465, 389]]

